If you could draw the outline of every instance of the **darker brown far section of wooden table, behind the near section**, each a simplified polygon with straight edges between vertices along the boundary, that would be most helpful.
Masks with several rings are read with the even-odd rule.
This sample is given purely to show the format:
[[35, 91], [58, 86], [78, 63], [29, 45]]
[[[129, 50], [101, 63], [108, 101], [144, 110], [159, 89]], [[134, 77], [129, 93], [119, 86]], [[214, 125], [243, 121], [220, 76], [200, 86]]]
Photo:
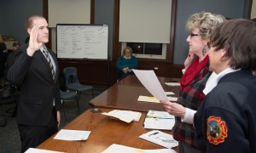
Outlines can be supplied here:
[[[177, 97], [177, 86], [167, 86], [165, 82], [172, 81], [169, 77], [158, 77], [160, 84], [166, 92], [173, 92]], [[152, 96], [135, 75], [125, 77], [115, 83], [105, 92], [90, 100], [90, 105], [97, 108], [113, 108], [131, 111], [165, 111], [163, 105], [159, 103], [147, 103], [137, 101], [140, 95]]]

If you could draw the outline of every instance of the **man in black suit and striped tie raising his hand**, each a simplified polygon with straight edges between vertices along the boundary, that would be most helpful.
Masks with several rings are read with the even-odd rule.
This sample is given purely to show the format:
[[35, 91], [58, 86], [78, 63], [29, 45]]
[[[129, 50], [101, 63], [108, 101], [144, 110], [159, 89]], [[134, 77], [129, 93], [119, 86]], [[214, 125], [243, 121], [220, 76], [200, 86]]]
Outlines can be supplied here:
[[58, 131], [61, 122], [59, 68], [49, 42], [48, 23], [41, 15], [26, 20], [30, 40], [18, 48], [7, 79], [20, 88], [17, 122], [21, 152], [35, 148]]

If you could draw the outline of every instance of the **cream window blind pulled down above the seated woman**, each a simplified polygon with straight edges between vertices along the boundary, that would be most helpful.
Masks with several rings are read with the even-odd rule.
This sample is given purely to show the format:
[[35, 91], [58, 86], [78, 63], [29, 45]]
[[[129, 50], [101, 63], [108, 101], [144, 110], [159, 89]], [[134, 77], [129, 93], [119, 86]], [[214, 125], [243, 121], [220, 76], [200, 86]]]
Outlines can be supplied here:
[[119, 42], [169, 43], [172, 0], [120, 0]]

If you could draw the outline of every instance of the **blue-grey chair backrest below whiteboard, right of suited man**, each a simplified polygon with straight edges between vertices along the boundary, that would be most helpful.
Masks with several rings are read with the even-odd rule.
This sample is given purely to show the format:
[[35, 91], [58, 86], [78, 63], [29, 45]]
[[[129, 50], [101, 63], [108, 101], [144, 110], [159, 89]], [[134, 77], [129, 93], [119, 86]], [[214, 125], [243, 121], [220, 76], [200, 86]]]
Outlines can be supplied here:
[[65, 76], [66, 85], [74, 82], [79, 82], [77, 69], [75, 67], [66, 67], [63, 70], [63, 72]]

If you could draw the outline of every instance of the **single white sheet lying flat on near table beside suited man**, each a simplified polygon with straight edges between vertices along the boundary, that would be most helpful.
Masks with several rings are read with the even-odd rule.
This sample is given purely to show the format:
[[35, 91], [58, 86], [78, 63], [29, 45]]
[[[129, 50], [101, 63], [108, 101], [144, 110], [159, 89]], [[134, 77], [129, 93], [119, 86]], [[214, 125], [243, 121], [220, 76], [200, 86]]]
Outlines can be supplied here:
[[80, 131], [80, 130], [67, 130], [61, 129], [59, 133], [55, 135], [54, 139], [62, 139], [62, 140], [86, 140], [90, 135], [90, 131]]

